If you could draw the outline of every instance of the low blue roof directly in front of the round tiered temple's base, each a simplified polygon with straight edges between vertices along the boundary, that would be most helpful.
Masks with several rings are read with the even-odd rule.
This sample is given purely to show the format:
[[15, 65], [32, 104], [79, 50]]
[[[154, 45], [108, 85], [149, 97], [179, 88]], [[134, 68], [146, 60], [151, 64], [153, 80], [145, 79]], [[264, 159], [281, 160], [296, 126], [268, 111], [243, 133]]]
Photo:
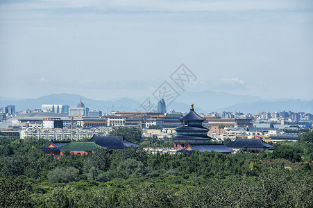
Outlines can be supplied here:
[[223, 144], [201, 144], [201, 145], [191, 145], [189, 144], [186, 148], [183, 150], [178, 150], [179, 153], [187, 152], [187, 153], [195, 153], [195, 150], [199, 150], [200, 152], [205, 152], [205, 151], [214, 151], [218, 153], [232, 153], [234, 150], [228, 149], [225, 145]]

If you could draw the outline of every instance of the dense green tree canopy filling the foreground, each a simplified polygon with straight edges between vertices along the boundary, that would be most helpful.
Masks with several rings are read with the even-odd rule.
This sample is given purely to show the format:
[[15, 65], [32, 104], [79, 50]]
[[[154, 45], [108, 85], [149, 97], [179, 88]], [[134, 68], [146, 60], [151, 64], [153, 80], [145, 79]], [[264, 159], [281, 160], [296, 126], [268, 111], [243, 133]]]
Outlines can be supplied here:
[[313, 207], [313, 132], [258, 155], [99, 148], [57, 159], [47, 144], [0, 137], [0, 207]]

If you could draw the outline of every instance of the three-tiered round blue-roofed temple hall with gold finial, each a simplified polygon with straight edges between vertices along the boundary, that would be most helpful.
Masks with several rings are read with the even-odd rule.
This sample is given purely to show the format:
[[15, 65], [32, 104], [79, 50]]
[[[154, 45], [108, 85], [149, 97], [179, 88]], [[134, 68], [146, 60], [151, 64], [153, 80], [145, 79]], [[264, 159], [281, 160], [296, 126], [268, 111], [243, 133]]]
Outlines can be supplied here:
[[172, 137], [176, 148], [186, 147], [188, 144], [210, 144], [211, 137], [208, 136], [208, 128], [203, 127], [205, 121], [194, 112], [194, 104], [190, 112], [179, 119], [182, 126], [176, 128], [177, 135]]

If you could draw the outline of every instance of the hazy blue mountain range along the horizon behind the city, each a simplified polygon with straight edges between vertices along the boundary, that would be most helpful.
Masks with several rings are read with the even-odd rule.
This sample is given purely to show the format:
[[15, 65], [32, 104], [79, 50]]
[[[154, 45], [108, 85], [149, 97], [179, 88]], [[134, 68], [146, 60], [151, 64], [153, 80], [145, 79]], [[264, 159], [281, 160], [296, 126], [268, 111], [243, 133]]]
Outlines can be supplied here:
[[[241, 111], [244, 113], [255, 114], [260, 111], [282, 111], [291, 110], [292, 112], [310, 112], [313, 113], [313, 100], [303, 101], [296, 99], [287, 100], [262, 100], [257, 96], [234, 95], [226, 92], [213, 92], [210, 90], [202, 92], [179, 92], [180, 96], [167, 106], [167, 110], [175, 110], [176, 112], [188, 112], [190, 103], [194, 103], [196, 112], [212, 112], [212, 111]], [[26, 109], [40, 109], [42, 104], [63, 104], [70, 107], [76, 107], [82, 99], [86, 107], [90, 110], [102, 110], [103, 113], [112, 110], [119, 112], [136, 112], [140, 109], [140, 105], [147, 98], [116, 98], [108, 101], [99, 101], [85, 98], [76, 94], [51, 94], [40, 98], [15, 100], [14, 98], [6, 100], [0, 97], [0, 107], [6, 105], [15, 105], [17, 111]], [[156, 105], [157, 100], [151, 98], [151, 103]]]

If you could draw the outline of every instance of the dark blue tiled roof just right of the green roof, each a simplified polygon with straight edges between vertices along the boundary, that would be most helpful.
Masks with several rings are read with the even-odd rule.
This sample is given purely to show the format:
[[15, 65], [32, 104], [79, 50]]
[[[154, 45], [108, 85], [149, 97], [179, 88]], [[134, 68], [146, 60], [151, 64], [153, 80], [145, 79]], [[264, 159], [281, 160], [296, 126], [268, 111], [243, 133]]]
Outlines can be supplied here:
[[128, 146], [135, 147], [138, 146], [137, 144], [127, 141], [121, 136], [108, 136], [108, 137], [94, 136], [89, 141], [95, 141], [96, 144], [98, 144], [99, 146], [103, 146], [105, 148], [126, 148]]

